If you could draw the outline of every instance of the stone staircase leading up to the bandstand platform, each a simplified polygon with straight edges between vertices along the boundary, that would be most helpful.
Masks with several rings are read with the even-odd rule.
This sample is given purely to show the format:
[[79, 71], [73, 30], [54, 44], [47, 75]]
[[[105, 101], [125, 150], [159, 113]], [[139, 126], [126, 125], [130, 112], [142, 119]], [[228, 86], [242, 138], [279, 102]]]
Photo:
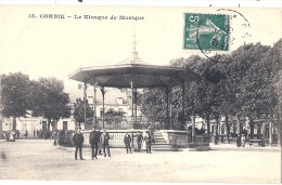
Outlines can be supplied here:
[[163, 136], [162, 132], [154, 132], [154, 143], [152, 143], [152, 150], [156, 151], [172, 151], [175, 150], [170, 144], [168, 144]]

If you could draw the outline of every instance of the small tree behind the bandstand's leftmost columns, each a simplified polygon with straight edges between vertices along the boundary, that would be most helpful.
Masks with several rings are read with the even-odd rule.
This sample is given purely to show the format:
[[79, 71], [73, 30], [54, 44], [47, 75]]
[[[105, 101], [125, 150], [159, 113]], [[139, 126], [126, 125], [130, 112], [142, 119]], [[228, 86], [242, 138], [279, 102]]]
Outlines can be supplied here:
[[[77, 98], [74, 104], [74, 119], [79, 124], [85, 122], [85, 102], [81, 98]], [[86, 118], [92, 118], [93, 117], [93, 110], [89, 106], [88, 102], [86, 104]]]

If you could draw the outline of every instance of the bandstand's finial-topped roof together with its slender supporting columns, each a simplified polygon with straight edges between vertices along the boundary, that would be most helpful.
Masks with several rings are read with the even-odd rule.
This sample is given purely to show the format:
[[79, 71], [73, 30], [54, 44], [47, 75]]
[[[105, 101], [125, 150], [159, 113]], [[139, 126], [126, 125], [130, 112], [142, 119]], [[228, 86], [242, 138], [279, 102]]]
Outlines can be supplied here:
[[[164, 88], [166, 92], [167, 102], [167, 118], [169, 118], [169, 104], [170, 94], [175, 85], [181, 85], [182, 100], [181, 110], [184, 113], [184, 102], [183, 95], [185, 91], [185, 82], [196, 79], [197, 76], [190, 71], [189, 69], [181, 67], [170, 67], [170, 66], [157, 66], [149, 65], [141, 57], [138, 56], [136, 50], [136, 41], [132, 43], [131, 56], [115, 64], [105, 66], [94, 66], [94, 67], [82, 67], [78, 68], [72, 75], [69, 79], [82, 82], [85, 85], [85, 101], [87, 87], [93, 87], [94, 91], [94, 118], [93, 127], [97, 127], [97, 89], [99, 88], [102, 93], [103, 103], [103, 128], [104, 128], [104, 98], [105, 98], [105, 88], [125, 88], [131, 89], [131, 123], [137, 121], [137, 115], [133, 114], [133, 109], [137, 109], [137, 89], [142, 88]], [[136, 98], [133, 98], [136, 97]], [[133, 108], [133, 105], [136, 107]], [[137, 111], [136, 111], [137, 113]], [[171, 129], [171, 122], [167, 119], [166, 129]]]

